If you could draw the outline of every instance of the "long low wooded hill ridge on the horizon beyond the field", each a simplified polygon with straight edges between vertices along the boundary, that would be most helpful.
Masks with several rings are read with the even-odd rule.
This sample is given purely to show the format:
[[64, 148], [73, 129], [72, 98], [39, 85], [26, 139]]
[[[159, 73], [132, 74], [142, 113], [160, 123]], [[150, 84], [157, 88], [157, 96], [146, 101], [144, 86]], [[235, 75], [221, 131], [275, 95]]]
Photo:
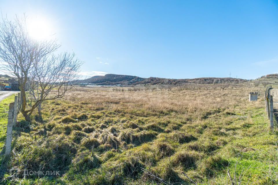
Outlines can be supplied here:
[[214, 78], [214, 77], [203, 77], [194, 79], [167, 79], [167, 78], [141, 78], [131, 75], [115, 75], [106, 74], [105, 76], [93, 76], [85, 79], [84, 83], [96, 84], [96, 85], [136, 85], [136, 84], [182, 84], [182, 83], [197, 83], [197, 84], [213, 84], [213, 83], [242, 83], [248, 80], [239, 78]]

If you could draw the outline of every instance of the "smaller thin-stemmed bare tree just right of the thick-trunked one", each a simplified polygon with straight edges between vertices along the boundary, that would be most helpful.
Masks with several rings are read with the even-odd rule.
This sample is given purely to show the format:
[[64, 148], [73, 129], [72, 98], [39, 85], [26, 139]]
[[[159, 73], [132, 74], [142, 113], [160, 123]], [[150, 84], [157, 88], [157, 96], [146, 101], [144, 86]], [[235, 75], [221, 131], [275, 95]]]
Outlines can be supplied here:
[[[75, 59], [75, 54], [63, 53], [59, 56], [42, 58], [34, 64], [29, 74], [27, 90], [36, 101], [29, 110], [25, 112], [28, 116], [38, 107], [39, 119], [41, 120], [41, 103], [46, 100], [62, 98], [66, 92], [75, 86], [78, 79], [78, 69], [82, 62]], [[55, 94], [49, 97], [49, 93], [55, 90]]]

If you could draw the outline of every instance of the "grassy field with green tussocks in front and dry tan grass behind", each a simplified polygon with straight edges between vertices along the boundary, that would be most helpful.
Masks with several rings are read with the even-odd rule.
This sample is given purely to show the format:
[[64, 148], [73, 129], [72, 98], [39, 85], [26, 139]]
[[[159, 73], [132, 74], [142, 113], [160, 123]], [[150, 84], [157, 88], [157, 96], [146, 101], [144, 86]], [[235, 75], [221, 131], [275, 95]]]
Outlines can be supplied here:
[[[258, 101], [248, 101], [249, 91], [261, 93]], [[18, 123], [3, 165], [20, 175], [2, 182], [163, 184], [157, 176], [171, 184], [277, 184], [277, 130], [269, 129], [263, 95], [262, 86], [79, 88], [43, 103], [44, 123]], [[60, 176], [23, 178], [24, 169]]]

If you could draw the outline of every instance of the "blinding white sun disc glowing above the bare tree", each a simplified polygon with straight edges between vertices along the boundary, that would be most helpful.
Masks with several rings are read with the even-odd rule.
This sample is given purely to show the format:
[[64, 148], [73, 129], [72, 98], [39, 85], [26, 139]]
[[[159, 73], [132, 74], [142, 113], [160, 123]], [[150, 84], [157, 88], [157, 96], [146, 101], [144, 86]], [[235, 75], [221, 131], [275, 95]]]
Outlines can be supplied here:
[[45, 18], [30, 18], [26, 27], [30, 37], [36, 40], [49, 40], [54, 35], [50, 21]]

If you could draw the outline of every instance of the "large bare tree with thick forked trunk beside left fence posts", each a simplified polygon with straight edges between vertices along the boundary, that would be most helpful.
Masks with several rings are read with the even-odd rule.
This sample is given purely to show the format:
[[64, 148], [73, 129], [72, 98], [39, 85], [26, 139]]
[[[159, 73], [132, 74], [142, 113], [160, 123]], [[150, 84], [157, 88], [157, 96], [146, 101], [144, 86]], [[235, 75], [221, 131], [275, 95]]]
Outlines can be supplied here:
[[[61, 46], [56, 40], [37, 41], [30, 38], [26, 30], [26, 17], [16, 17], [14, 21], [2, 18], [0, 23], [0, 70], [17, 77], [21, 92], [21, 113], [26, 121], [41, 102], [62, 98], [73, 86], [70, 80], [77, 77], [82, 62], [74, 59], [74, 54], [52, 55]], [[47, 95], [53, 89], [54, 97]], [[32, 92], [35, 99], [27, 110], [25, 90]]]

